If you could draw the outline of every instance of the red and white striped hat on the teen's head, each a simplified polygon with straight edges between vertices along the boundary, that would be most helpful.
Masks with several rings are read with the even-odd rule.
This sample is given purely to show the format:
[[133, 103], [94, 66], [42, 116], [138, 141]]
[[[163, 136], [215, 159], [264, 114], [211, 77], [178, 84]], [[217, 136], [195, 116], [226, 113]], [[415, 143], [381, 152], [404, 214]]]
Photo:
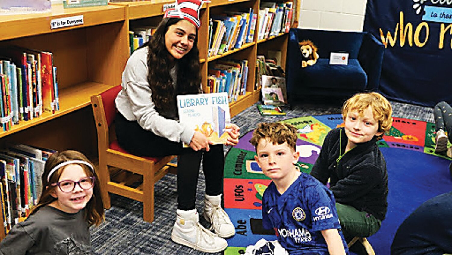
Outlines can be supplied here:
[[199, 10], [202, 6], [202, 0], [176, 0], [175, 9], [167, 9], [163, 18], [180, 18], [186, 19], [195, 25], [196, 28], [201, 27], [199, 20]]

